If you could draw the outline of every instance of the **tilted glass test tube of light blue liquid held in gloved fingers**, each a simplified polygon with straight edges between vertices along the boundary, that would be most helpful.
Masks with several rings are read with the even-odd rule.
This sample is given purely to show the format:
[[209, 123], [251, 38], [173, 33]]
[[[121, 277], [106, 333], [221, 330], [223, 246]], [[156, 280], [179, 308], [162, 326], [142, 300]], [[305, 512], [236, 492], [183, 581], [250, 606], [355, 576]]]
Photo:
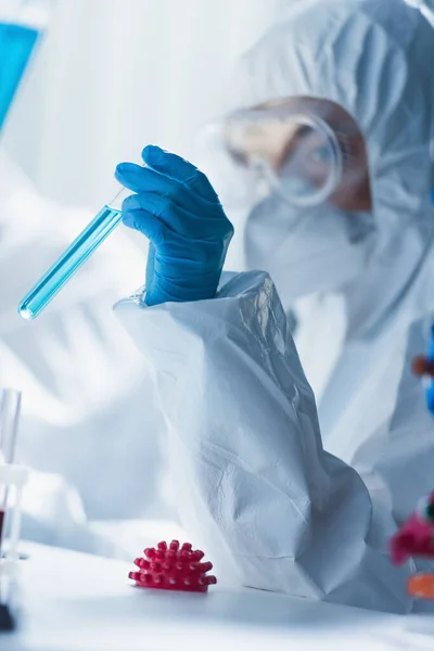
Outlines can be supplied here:
[[123, 188], [24, 296], [18, 303], [23, 319], [35, 319], [116, 228], [122, 219], [122, 202], [129, 194], [131, 192]]

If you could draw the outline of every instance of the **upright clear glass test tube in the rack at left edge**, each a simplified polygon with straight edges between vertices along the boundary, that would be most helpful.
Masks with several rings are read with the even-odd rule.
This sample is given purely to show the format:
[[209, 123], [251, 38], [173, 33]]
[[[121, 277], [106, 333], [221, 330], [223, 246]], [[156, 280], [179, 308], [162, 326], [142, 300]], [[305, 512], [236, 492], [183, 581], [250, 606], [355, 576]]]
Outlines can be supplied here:
[[[21, 411], [21, 393], [13, 388], [0, 390], [0, 464], [12, 464]], [[0, 485], [0, 558], [4, 519], [8, 506], [8, 486]]]

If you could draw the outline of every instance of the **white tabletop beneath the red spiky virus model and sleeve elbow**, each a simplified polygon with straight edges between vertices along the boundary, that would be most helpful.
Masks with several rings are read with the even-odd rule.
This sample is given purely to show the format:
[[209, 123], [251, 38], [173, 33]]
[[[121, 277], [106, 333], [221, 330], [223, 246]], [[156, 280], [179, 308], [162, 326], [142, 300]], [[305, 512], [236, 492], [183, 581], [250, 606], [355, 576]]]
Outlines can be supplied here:
[[256, 590], [135, 588], [132, 563], [25, 545], [23, 613], [1, 651], [434, 650], [434, 617], [398, 617]]

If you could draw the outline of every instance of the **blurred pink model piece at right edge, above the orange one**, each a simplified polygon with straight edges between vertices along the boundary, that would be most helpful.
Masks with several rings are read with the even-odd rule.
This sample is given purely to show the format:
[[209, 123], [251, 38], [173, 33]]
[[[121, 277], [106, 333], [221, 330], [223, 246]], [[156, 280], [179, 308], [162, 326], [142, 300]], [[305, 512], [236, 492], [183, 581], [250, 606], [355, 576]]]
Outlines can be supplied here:
[[391, 557], [401, 565], [410, 557], [434, 559], [434, 493], [421, 500], [414, 513], [391, 539]]

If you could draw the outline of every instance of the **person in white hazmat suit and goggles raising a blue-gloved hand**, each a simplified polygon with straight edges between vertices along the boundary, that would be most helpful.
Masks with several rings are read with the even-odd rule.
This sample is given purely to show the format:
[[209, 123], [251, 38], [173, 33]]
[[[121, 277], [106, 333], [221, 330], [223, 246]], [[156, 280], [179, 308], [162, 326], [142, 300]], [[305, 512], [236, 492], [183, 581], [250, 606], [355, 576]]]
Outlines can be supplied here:
[[[306, 0], [245, 55], [213, 155], [250, 271], [220, 276], [222, 177], [156, 146], [117, 167], [151, 250], [115, 311], [153, 369], [182, 524], [245, 586], [413, 608], [388, 540], [432, 489], [434, 437], [394, 432], [434, 308], [433, 56], [403, 0]], [[298, 354], [286, 312], [306, 296]]]

